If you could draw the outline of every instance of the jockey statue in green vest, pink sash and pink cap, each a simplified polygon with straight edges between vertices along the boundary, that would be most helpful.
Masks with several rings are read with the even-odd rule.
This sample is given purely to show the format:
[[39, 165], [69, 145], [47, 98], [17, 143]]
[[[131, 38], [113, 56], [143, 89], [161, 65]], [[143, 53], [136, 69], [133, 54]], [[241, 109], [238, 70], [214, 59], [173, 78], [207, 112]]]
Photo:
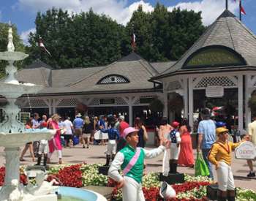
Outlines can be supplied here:
[[[145, 200], [141, 185], [144, 158], [157, 157], [165, 151], [165, 146], [168, 143], [164, 141], [158, 148], [148, 151], [144, 148], [137, 148], [138, 129], [128, 127], [124, 129], [123, 136], [127, 140], [127, 145], [116, 153], [116, 157], [108, 170], [108, 175], [118, 182], [118, 188], [122, 188], [123, 201]], [[120, 168], [123, 176], [118, 172]]]

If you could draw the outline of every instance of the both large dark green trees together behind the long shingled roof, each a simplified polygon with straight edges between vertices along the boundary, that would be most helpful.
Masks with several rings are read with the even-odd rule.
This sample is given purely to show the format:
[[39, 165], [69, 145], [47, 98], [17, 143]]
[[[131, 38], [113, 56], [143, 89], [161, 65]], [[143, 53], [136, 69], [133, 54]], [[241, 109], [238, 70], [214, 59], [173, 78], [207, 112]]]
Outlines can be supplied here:
[[[131, 36], [136, 35], [135, 51], [148, 61], [177, 60], [203, 33], [200, 12], [167, 8], [157, 4], [153, 12], [143, 7], [133, 12], [127, 26], [92, 10], [71, 15], [55, 8], [38, 12], [36, 32], [30, 34], [30, 57], [55, 68], [94, 67], [110, 64], [132, 51]], [[39, 36], [52, 56], [38, 45]]]

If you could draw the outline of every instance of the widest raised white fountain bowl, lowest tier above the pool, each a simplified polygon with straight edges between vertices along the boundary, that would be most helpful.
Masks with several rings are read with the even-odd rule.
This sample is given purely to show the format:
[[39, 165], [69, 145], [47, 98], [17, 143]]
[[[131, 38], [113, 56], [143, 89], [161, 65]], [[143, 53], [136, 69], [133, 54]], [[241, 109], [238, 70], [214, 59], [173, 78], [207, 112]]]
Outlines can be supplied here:
[[47, 132], [16, 132], [12, 134], [0, 132], [0, 146], [5, 148], [18, 148], [28, 142], [42, 139], [50, 140], [55, 133], [56, 130], [48, 130]]

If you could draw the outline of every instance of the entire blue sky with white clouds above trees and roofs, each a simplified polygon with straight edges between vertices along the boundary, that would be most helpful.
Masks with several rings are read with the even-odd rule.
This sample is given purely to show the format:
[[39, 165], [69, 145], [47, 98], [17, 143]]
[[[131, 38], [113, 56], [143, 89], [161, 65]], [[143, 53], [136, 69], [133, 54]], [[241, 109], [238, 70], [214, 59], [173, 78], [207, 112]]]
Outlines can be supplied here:
[[[238, 1], [228, 0], [228, 9], [238, 16]], [[256, 0], [241, 0], [246, 15], [242, 15], [243, 23], [256, 34]], [[126, 25], [137, 10], [143, 5], [145, 12], [154, 10], [159, 2], [173, 10], [174, 7], [202, 12], [203, 24], [208, 26], [225, 10], [225, 0], [0, 0], [0, 22], [14, 23], [18, 34], [27, 45], [29, 32], [35, 31], [34, 20], [37, 12], [56, 7], [69, 12], [87, 12], [90, 8], [99, 14], [104, 13], [118, 23]]]

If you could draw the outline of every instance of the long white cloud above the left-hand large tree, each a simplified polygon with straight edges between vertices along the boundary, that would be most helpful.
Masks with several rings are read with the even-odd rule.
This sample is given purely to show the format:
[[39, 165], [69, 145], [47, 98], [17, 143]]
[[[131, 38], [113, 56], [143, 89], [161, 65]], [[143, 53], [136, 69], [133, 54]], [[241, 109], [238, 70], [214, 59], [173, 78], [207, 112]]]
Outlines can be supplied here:
[[69, 12], [89, 11], [90, 8], [98, 14], [105, 14], [118, 23], [126, 24], [132, 17], [132, 12], [138, 9], [139, 4], [145, 12], [151, 12], [154, 7], [143, 0], [127, 5], [127, 0], [18, 0], [15, 8], [33, 12], [48, 10], [52, 7], [69, 10]]

